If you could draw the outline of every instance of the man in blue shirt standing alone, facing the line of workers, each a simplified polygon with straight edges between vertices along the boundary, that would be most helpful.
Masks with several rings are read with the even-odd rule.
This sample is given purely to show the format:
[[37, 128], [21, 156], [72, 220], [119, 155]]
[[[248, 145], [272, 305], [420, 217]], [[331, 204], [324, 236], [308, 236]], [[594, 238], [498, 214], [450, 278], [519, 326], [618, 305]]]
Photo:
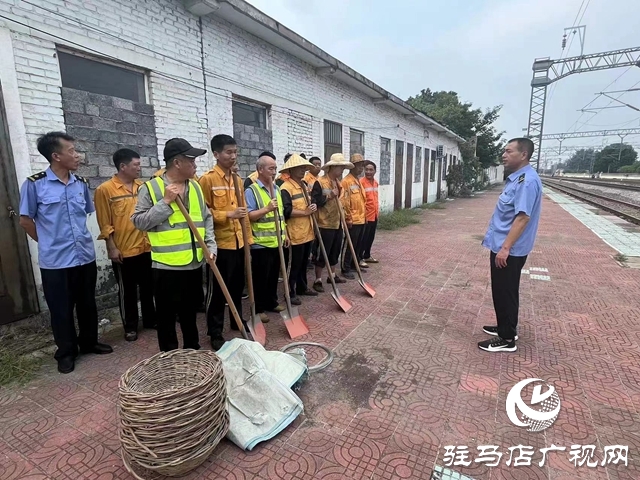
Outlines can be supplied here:
[[478, 343], [487, 352], [515, 352], [518, 340], [520, 272], [533, 249], [542, 206], [542, 182], [529, 165], [533, 142], [514, 138], [505, 147], [502, 160], [511, 172], [491, 217], [482, 245], [491, 250], [491, 293], [497, 326], [482, 330], [495, 336]]

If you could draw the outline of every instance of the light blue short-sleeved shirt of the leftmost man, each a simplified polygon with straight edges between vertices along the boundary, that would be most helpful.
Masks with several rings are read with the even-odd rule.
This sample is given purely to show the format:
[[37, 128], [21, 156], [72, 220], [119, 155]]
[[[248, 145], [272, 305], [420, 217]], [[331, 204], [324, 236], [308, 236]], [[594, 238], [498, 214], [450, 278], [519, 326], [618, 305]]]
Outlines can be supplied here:
[[32, 218], [38, 233], [40, 268], [86, 265], [96, 259], [87, 214], [95, 208], [89, 186], [69, 174], [66, 185], [47, 168], [29, 177], [20, 189], [20, 215]]

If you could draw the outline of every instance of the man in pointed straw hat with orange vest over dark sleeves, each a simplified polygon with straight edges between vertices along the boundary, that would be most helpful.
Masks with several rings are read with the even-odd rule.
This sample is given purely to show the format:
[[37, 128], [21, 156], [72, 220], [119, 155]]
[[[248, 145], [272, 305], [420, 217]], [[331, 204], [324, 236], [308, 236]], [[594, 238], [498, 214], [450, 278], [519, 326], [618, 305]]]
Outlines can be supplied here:
[[280, 169], [289, 178], [281, 186], [284, 218], [291, 243], [291, 272], [289, 273], [289, 293], [293, 305], [301, 305], [299, 295], [316, 296], [318, 293], [307, 284], [307, 261], [315, 238], [311, 215], [317, 210], [314, 203], [307, 204], [305, 191], [309, 188], [302, 180], [312, 165], [295, 153]]

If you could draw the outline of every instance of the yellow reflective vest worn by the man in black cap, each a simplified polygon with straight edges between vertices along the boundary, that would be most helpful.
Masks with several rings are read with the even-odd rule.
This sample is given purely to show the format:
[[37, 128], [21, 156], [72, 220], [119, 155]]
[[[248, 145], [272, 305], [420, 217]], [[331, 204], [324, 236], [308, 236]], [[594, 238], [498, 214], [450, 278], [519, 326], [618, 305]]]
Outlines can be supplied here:
[[[146, 184], [153, 204], [161, 202], [164, 197], [164, 180], [161, 177], [155, 177]], [[151, 259], [171, 267], [182, 267], [194, 261], [195, 250], [196, 259], [201, 262], [202, 248], [191, 233], [186, 218], [176, 202], [171, 202], [170, 206], [173, 209], [171, 216], [147, 232], [149, 243], [151, 243]], [[189, 180], [189, 216], [202, 238], [205, 236], [202, 212], [206, 208], [200, 185], [194, 180]]]

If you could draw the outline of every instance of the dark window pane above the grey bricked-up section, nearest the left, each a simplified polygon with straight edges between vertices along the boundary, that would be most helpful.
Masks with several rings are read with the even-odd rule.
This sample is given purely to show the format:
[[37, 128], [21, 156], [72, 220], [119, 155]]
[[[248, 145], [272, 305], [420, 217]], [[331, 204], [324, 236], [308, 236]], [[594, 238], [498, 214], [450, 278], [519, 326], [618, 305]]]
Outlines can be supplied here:
[[142, 72], [62, 51], [58, 62], [63, 87], [147, 103]]

